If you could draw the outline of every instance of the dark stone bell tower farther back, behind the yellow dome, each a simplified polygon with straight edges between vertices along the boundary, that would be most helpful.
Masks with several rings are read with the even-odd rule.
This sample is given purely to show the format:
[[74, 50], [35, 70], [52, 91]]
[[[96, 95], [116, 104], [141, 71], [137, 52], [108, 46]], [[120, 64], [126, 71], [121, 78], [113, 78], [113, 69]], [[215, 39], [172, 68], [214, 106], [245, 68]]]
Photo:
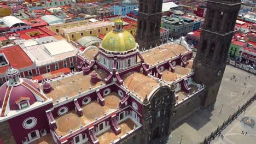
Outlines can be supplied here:
[[139, 0], [136, 41], [139, 50], [160, 44], [162, 0]]

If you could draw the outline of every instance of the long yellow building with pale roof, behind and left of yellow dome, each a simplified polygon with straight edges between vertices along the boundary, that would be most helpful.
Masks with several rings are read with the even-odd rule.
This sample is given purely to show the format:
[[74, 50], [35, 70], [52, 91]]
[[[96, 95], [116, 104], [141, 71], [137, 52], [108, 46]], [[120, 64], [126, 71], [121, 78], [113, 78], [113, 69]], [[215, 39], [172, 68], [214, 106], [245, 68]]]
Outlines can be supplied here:
[[86, 36], [105, 35], [113, 29], [111, 23], [107, 21], [75, 21], [49, 26], [49, 28], [57, 34], [63, 35], [68, 43]]

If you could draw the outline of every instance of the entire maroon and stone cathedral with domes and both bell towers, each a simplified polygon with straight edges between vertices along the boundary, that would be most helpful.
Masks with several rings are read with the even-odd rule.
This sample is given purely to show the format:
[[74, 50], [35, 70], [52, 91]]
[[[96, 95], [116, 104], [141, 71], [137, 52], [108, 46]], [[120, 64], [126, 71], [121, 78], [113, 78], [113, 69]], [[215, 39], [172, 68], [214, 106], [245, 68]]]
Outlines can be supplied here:
[[69, 74], [32, 81], [10, 66], [0, 87], [0, 140], [148, 144], [213, 107], [241, 1], [207, 1], [194, 60], [184, 38], [159, 44], [161, 3], [139, 1], [137, 43], [118, 18], [100, 46], [77, 53]]

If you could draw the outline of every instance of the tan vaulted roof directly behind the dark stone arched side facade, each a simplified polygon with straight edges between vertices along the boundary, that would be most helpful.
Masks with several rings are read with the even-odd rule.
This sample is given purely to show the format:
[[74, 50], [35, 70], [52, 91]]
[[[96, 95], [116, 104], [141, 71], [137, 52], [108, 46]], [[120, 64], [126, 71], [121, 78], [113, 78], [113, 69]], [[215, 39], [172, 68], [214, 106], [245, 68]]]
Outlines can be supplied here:
[[158, 87], [158, 83], [151, 79], [150, 77], [143, 75], [137, 72], [130, 72], [126, 75], [122, 76], [125, 87], [129, 89], [129, 91], [134, 91], [135, 94], [138, 94], [138, 97], [142, 97], [142, 100], [153, 91], [156, 87]]

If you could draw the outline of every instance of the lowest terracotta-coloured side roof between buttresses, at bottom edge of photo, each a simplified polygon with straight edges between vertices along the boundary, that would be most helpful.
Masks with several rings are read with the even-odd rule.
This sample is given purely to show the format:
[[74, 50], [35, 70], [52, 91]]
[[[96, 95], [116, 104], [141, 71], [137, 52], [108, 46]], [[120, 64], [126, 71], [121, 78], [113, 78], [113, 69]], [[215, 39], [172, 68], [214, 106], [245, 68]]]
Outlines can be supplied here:
[[[111, 141], [115, 141], [119, 139], [119, 136], [123, 136], [126, 134], [126, 131], [131, 131], [136, 125], [130, 118], [126, 119], [125, 121], [119, 123], [119, 127], [121, 128], [121, 134], [115, 135], [112, 129], [109, 129], [102, 133], [101, 135], [98, 135], [98, 141], [100, 143], [111, 143]], [[137, 127], [137, 125], [136, 125]]]

